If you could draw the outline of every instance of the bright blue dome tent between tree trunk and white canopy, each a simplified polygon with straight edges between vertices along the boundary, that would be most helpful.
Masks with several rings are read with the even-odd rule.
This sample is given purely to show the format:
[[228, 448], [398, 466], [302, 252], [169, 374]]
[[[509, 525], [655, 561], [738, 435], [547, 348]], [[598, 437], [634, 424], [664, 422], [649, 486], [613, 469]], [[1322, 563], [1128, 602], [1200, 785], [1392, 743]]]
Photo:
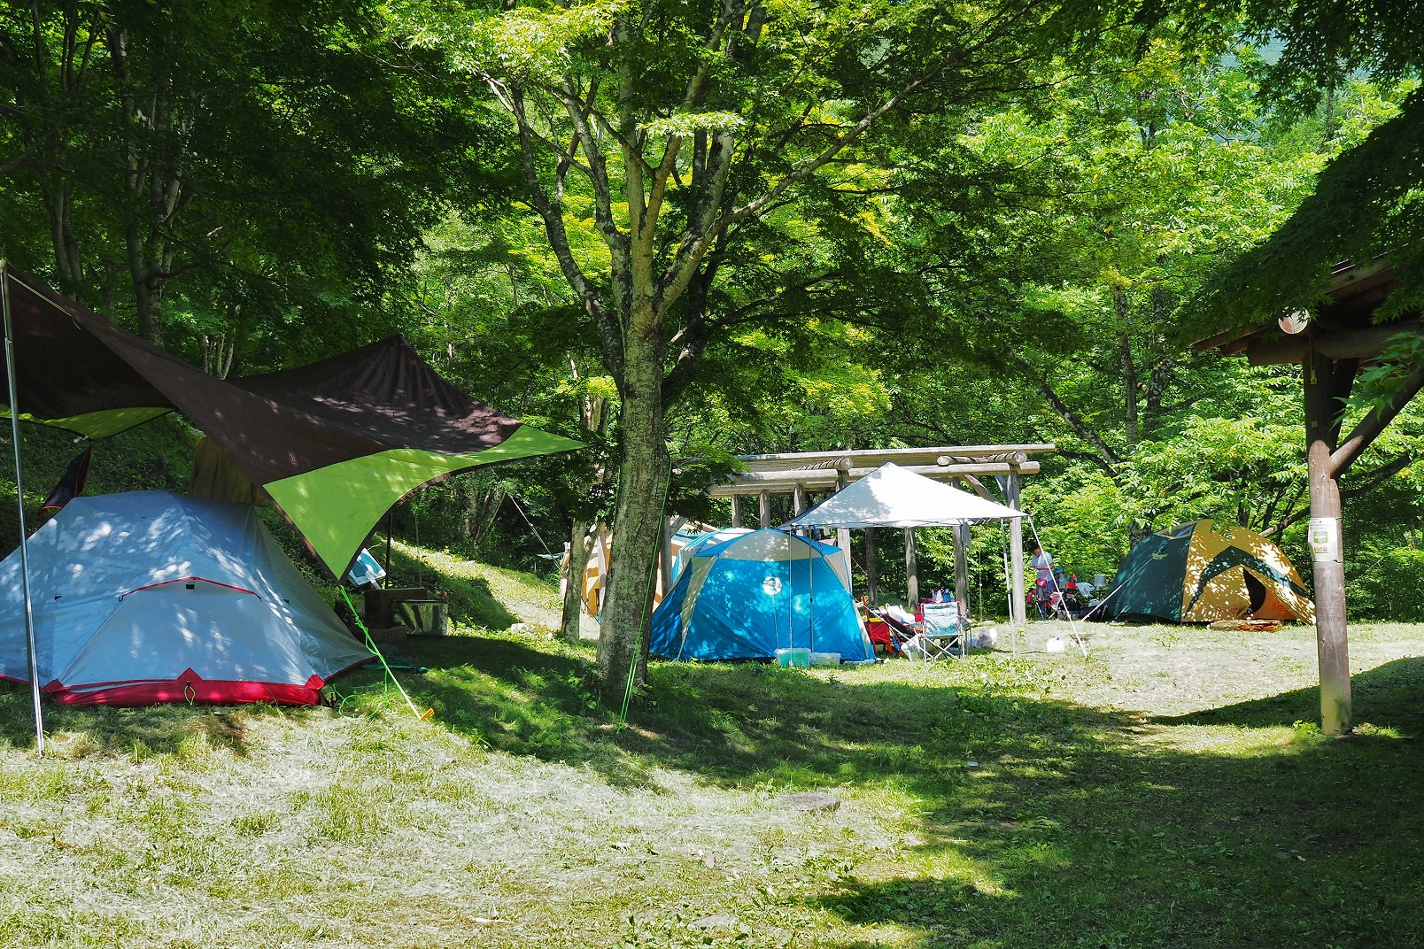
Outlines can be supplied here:
[[698, 549], [652, 615], [666, 659], [770, 659], [778, 649], [874, 659], [839, 548], [775, 529]]

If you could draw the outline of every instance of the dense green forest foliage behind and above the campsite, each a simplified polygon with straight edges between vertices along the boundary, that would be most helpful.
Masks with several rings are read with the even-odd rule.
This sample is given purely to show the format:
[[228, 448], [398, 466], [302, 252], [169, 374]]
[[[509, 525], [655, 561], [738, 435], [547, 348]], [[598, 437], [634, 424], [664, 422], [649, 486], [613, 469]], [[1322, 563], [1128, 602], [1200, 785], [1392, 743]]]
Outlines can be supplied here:
[[[621, 485], [726, 524], [703, 488], [736, 454], [1038, 441], [1059, 451], [1025, 507], [1079, 576], [1195, 518], [1303, 563], [1299, 369], [1198, 353], [1186, 329], [1418, 84], [1353, 70], [1302, 105], [1263, 91], [1279, 44], [1239, 24], [1098, 21], [1067, 54], [1051, 11], [7, 4], [0, 255], [218, 376], [400, 332], [471, 396], [588, 442], [396, 518], [498, 565], [551, 572]], [[646, 332], [639, 260], [668, 275]], [[649, 334], [665, 421], [638, 437], [665, 448], [637, 487], [651, 415], [624, 356]], [[1358, 617], [1424, 619], [1421, 421], [1344, 484]], [[191, 433], [164, 424], [181, 454]], [[97, 455], [124, 487], [184, 464]], [[950, 552], [924, 532], [921, 583], [950, 582]], [[1001, 609], [997, 528], [973, 568]]]

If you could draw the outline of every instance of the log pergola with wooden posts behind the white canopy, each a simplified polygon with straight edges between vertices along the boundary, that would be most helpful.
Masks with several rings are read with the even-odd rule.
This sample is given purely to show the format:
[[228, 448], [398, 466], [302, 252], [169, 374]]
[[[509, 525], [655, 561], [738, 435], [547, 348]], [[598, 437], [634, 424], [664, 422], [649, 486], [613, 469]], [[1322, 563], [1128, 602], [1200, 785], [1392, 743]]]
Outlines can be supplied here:
[[[742, 502], [756, 498], [756, 518], [763, 528], [772, 526], [772, 497], [790, 495], [792, 514], [810, 507], [815, 492], [832, 494], [857, 481], [886, 462], [909, 471], [950, 481], [968, 488], [987, 501], [1022, 511], [1024, 475], [1037, 474], [1038, 462], [1030, 455], [1057, 451], [1052, 444], [1030, 445], [941, 445], [930, 448], [867, 448], [839, 451], [797, 451], [768, 455], [739, 455], [743, 471], [713, 485], [713, 498], [731, 498], [732, 526], [742, 526]], [[866, 590], [871, 600], [876, 589], [876, 528], [864, 531], [864, 568], [869, 579]], [[836, 532], [837, 546], [846, 552], [850, 566], [850, 531]], [[1014, 625], [1027, 620], [1024, 606], [1024, 534], [1020, 519], [1010, 521], [1010, 616]], [[954, 595], [968, 609], [968, 528], [954, 528]], [[918, 565], [914, 549], [914, 529], [904, 528], [904, 566], [909, 602], [920, 599]], [[849, 575], [849, 573], [847, 573]]]

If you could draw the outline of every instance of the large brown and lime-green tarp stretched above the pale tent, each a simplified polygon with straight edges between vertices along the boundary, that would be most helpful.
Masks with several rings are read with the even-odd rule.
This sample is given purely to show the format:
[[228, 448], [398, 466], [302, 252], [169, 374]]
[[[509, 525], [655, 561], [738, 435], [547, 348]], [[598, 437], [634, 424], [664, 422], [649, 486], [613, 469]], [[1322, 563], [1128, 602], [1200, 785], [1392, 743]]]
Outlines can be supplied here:
[[21, 420], [105, 438], [179, 411], [335, 576], [393, 505], [431, 481], [582, 447], [470, 398], [400, 336], [221, 380], [4, 263], [0, 292]]

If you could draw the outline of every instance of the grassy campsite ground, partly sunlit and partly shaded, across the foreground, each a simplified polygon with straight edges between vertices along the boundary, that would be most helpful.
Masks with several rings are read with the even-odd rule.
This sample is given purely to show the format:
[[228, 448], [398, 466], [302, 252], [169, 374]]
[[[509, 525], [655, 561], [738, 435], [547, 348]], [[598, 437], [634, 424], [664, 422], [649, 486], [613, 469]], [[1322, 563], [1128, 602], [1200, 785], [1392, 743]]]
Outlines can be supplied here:
[[[457, 605], [553, 598], [439, 565]], [[397, 647], [431, 721], [359, 672], [330, 709], [51, 707], [46, 761], [0, 686], [0, 946], [1424, 940], [1424, 630], [1354, 632], [1373, 724], [1341, 741], [1293, 727], [1307, 630], [1095, 632], [1087, 660], [655, 664], [618, 733], [588, 646], [463, 627]], [[809, 788], [844, 804], [776, 805]]]

